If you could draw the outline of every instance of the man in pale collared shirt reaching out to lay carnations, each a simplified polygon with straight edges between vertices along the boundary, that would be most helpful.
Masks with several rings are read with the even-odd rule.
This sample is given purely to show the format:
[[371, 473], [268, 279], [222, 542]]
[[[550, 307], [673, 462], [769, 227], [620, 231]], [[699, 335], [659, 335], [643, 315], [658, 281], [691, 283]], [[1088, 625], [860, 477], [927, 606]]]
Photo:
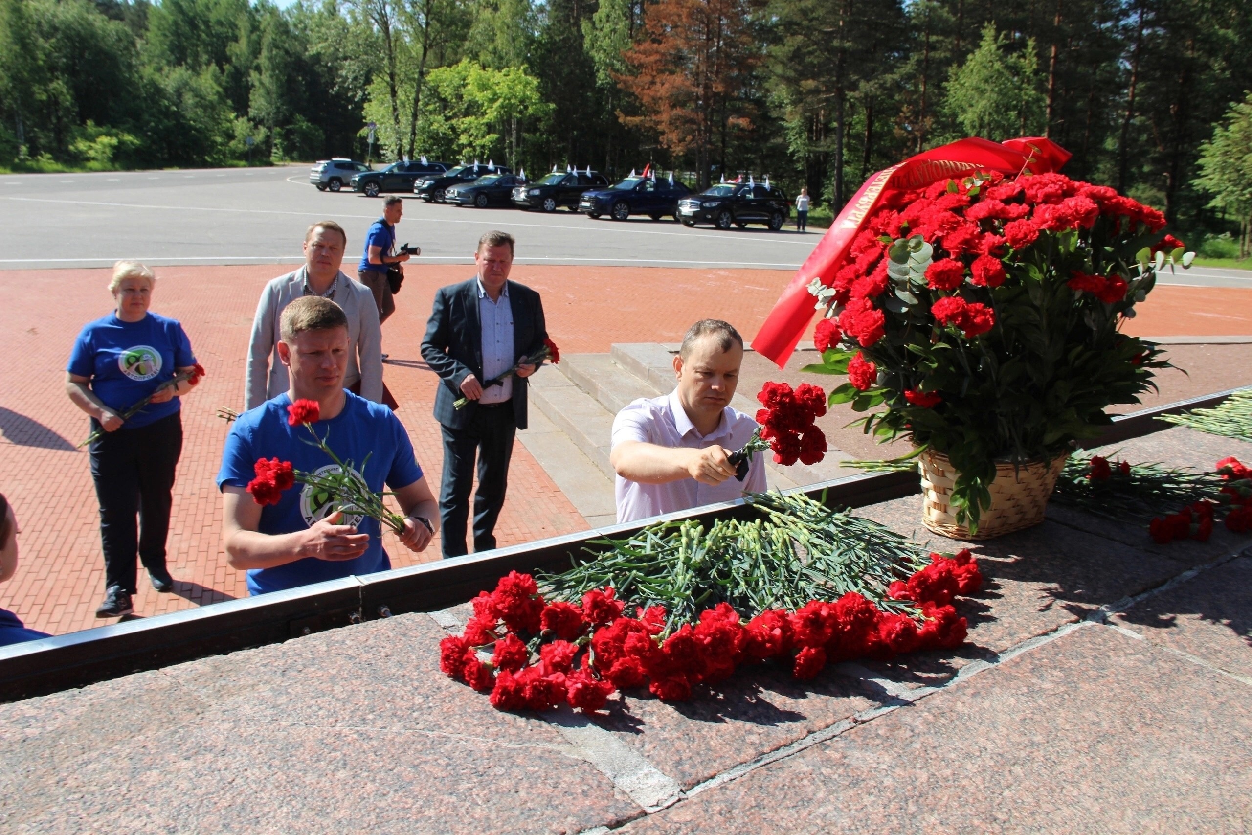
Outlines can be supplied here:
[[766, 489], [760, 452], [752, 453], [742, 482], [730, 462], [756, 431], [756, 421], [730, 407], [742, 362], [739, 332], [720, 319], [701, 319], [687, 329], [674, 358], [675, 389], [617, 413], [608, 461], [617, 472], [618, 522]]

